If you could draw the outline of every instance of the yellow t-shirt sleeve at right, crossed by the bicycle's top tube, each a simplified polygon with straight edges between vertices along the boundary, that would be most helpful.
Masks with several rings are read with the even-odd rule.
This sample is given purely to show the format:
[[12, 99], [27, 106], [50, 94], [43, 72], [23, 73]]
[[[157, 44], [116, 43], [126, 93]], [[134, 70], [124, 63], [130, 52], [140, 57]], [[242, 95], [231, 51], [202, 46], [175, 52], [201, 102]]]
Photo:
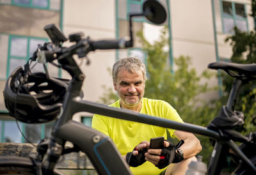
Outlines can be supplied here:
[[[170, 119], [172, 121], [177, 121], [179, 123], [184, 123], [184, 121], [180, 118], [177, 110], [175, 110], [172, 105], [170, 105], [169, 103], [167, 102], [164, 102], [164, 110], [166, 110], [166, 118], [167, 119]], [[168, 132], [170, 132], [170, 136], [171, 137], [175, 137], [175, 135], [173, 135], [173, 133], [175, 132], [174, 129], [170, 129], [170, 128], [167, 128]]]

